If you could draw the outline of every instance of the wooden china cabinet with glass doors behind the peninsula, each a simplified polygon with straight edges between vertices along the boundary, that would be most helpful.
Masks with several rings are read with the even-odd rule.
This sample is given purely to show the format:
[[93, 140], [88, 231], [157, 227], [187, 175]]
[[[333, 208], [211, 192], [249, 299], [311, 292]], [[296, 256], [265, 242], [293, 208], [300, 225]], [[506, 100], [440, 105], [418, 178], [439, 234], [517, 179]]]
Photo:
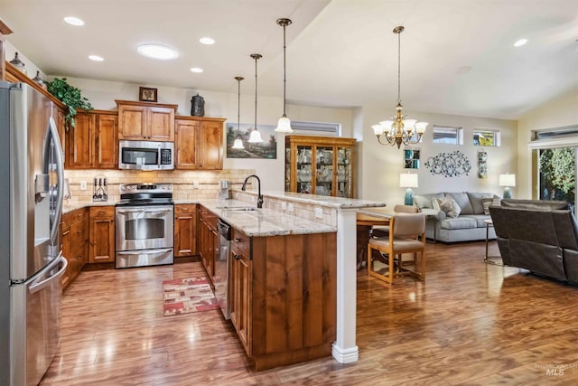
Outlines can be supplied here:
[[285, 137], [285, 192], [353, 198], [355, 138]]

